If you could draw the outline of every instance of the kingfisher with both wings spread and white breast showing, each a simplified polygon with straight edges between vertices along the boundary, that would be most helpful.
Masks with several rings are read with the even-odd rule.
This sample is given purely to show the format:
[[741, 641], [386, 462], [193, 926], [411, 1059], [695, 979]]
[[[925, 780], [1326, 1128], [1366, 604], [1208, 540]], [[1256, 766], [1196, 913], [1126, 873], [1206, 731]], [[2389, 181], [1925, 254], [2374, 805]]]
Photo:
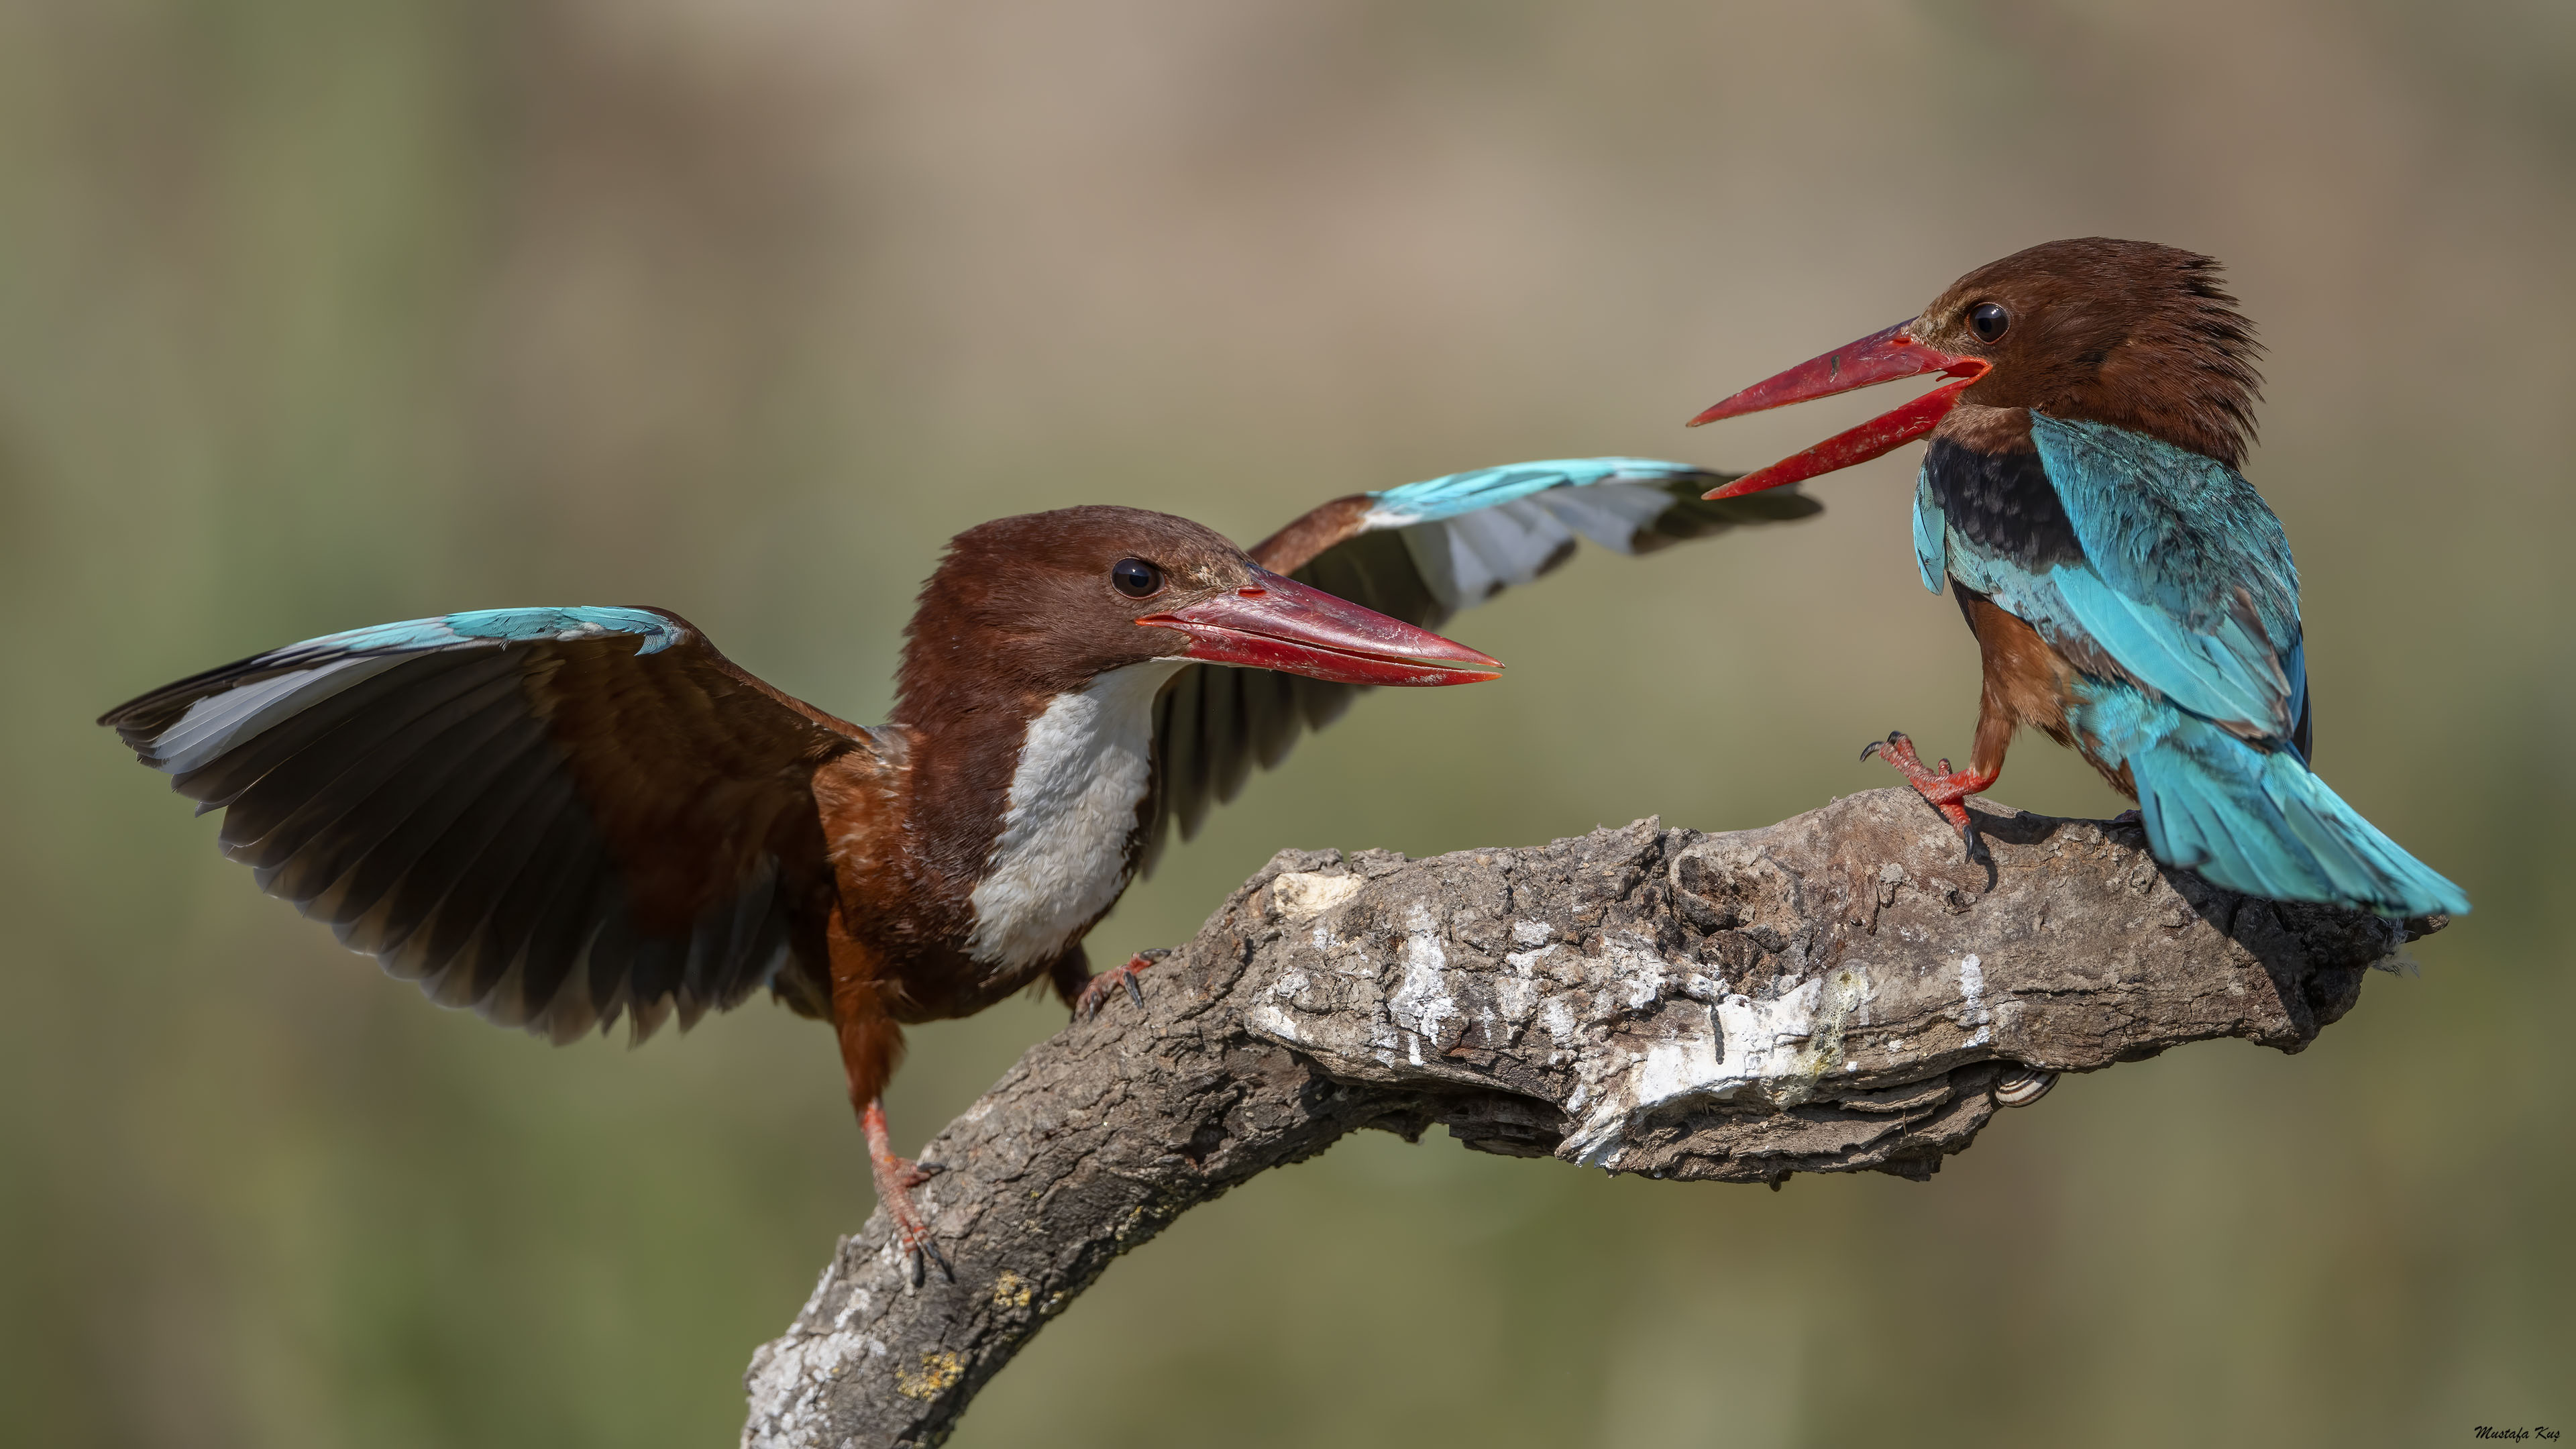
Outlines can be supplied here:
[[[487, 608], [325, 634], [100, 724], [224, 810], [222, 848], [443, 1006], [636, 1042], [757, 987], [840, 1036], [914, 1281], [945, 1261], [878, 1101], [907, 1021], [1025, 985], [1077, 1013], [1082, 936], [1255, 763], [1355, 686], [1497, 678], [1430, 629], [1589, 536], [1643, 552], [1806, 498], [1571, 459], [1337, 498], [1249, 554], [1136, 508], [958, 534], [907, 629], [894, 719], [835, 719], [662, 608]], [[1213, 668], [1239, 665], [1239, 668]]]

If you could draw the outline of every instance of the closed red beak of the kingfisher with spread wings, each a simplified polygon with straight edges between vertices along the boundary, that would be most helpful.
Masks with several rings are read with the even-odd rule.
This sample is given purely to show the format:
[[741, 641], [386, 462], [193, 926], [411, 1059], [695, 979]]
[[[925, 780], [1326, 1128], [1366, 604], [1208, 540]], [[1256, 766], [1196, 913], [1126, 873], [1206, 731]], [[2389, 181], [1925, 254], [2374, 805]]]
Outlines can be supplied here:
[[1182, 652], [1190, 660], [1334, 683], [1432, 686], [1502, 676], [1502, 660], [1267, 570], [1244, 588], [1146, 614], [1139, 624], [1190, 634]]

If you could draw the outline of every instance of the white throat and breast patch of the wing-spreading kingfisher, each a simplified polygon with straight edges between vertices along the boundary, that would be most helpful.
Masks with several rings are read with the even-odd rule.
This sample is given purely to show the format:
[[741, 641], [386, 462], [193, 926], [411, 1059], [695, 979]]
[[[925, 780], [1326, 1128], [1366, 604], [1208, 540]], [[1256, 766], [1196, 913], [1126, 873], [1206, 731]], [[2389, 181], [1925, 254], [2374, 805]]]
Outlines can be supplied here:
[[1046, 964], [1118, 900], [1136, 802], [1154, 781], [1154, 694], [1185, 663], [1115, 668], [1028, 722], [992, 869], [974, 887], [966, 954], [1012, 969]]

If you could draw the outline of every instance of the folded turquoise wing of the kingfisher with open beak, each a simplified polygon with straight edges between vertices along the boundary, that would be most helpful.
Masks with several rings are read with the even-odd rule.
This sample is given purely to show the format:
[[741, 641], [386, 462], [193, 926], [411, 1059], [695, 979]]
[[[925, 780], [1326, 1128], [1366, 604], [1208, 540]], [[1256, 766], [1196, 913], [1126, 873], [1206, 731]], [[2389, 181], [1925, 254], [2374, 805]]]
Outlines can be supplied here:
[[1937, 585], [1947, 565], [2079, 668], [2125, 676], [2236, 735], [2306, 755], [2298, 567], [2254, 485], [2215, 459], [2102, 423], [2032, 415], [2030, 436], [2084, 557], [2045, 567], [1960, 557], [1924, 485], [1914, 521], [1924, 580]]

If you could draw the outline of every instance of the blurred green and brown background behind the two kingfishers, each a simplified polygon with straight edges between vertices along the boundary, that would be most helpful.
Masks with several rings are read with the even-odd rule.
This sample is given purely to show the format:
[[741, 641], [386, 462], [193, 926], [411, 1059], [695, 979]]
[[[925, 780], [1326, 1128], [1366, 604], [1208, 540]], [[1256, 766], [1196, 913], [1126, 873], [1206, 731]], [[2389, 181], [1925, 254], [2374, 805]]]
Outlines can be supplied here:
[[[662, 603], [878, 719], [940, 541], [1255, 539], [1700, 405], [2069, 235], [2221, 255], [2324, 773], [2478, 900], [2303, 1057], [2066, 1080], [1927, 1183], [1368, 1134], [1193, 1212], [958, 1444], [2447, 1444], [2576, 1418], [2576, 8], [0, 0], [0, 1439], [729, 1444], [868, 1207], [827, 1034], [438, 1011], [95, 730], [286, 639]], [[1744, 828], [1968, 743], [1911, 449], [1471, 614], [1128, 892]], [[2117, 804], [2025, 740], [1999, 799]], [[912, 1145], [1061, 1024], [914, 1034]]]

